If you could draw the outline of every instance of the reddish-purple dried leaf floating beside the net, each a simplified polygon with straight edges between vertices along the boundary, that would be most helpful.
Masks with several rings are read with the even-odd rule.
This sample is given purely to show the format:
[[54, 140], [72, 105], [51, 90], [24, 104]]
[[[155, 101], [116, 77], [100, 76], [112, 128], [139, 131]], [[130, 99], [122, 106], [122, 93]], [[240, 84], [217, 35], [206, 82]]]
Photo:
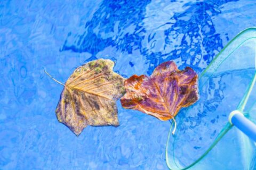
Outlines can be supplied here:
[[150, 77], [133, 75], [125, 80], [125, 89], [126, 94], [121, 98], [124, 108], [136, 109], [162, 121], [174, 120], [181, 107], [188, 107], [198, 99], [196, 72], [190, 67], [180, 71], [172, 61], [157, 66]]

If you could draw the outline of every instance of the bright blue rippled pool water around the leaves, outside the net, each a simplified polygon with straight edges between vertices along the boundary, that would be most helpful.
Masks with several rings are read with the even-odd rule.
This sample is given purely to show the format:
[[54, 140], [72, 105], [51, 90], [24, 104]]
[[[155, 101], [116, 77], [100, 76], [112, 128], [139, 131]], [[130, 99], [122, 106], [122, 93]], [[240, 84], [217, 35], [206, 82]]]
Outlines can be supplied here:
[[118, 101], [120, 126], [76, 137], [55, 116], [63, 87], [44, 70], [65, 82], [109, 58], [125, 78], [169, 60], [200, 74], [255, 23], [255, 0], [1, 1], [0, 169], [167, 169], [170, 122]]

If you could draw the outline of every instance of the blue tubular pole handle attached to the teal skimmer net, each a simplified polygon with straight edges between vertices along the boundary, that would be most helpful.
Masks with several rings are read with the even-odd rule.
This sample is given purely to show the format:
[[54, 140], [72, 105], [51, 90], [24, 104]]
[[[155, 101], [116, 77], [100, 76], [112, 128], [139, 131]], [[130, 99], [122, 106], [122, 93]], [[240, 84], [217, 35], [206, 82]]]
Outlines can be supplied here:
[[233, 111], [229, 114], [229, 123], [233, 124], [256, 142], [256, 125], [244, 116], [240, 111]]

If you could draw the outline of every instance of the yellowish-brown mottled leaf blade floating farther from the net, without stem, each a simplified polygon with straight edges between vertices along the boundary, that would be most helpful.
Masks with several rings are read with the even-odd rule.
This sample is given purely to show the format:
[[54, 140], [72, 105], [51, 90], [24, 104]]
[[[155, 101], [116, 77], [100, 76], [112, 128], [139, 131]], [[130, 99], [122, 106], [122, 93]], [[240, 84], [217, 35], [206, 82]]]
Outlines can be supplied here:
[[56, 109], [59, 122], [79, 135], [87, 126], [118, 126], [116, 100], [124, 92], [124, 78], [113, 72], [114, 62], [95, 60], [69, 77]]

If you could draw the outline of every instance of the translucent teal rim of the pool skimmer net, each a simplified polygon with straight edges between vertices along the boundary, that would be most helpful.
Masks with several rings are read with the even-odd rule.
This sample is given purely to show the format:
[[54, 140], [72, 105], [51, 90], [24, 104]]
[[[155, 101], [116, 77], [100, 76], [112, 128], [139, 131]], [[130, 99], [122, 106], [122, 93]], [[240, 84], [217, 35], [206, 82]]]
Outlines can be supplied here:
[[[226, 60], [228, 60], [231, 55], [234, 55], [234, 53], [237, 51], [237, 49], [239, 49], [241, 46], [243, 46], [244, 44], [246, 44], [249, 41], [252, 42], [252, 43], [256, 42], [256, 28], [248, 28], [248, 29], [242, 31], [235, 38], [233, 38], [221, 50], [221, 52], [213, 59], [213, 61], [209, 64], [209, 66], [207, 66], [207, 68], [199, 76], [199, 92], [205, 86], [207, 81], [209, 81], [209, 79], [213, 76], [213, 74], [217, 74], [216, 72], [220, 69], [220, 66], [222, 65], [222, 63], [225, 62]], [[255, 44], [252, 45], [252, 47], [255, 46]], [[256, 47], [254, 49], [256, 49]], [[246, 107], [246, 104], [247, 104], [247, 102], [250, 98], [250, 95], [252, 94], [254, 84], [255, 84], [255, 81], [256, 81], [255, 53], [256, 53], [256, 50], [254, 51], [254, 58], [253, 59], [252, 59], [253, 56], [248, 59], [248, 60], [251, 59], [248, 63], [249, 64], [251, 63], [254, 66], [254, 69], [250, 67], [252, 69], [252, 73], [253, 73], [252, 76], [250, 78], [247, 78], [247, 79], [251, 79], [250, 83], [247, 83], [247, 87], [246, 87], [246, 90], [243, 94], [242, 99], [239, 101], [238, 106], [236, 108], [234, 108], [234, 109], [237, 109], [238, 111], [242, 112], [246, 117], [253, 120], [254, 122], [255, 122], [255, 120], [254, 120], [255, 117], [251, 117], [250, 114], [249, 114], [250, 111], [255, 109], [254, 99], [253, 99], [252, 102], [250, 101], [252, 103], [251, 106], [249, 106], [250, 108], [245, 109], [245, 107]], [[245, 58], [245, 60], [246, 60], [246, 58]], [[244, 65], [246, 65], [246, 64], [244, 64]], [[243, 65], [243, 64], [241, 64], [241, 65]], [[228, 67], [228, 65], [227, 65], [227, 67]], [[222, 69], [222, 70], [225, 70], [225, 69]], [[246, 70], [246, 68], [244, 70]], [[222, 71], [222, 72], [224, 72], [224, 71]], [[245, 76], [246, 75], [247, 74], [245, 74]], [[183, 115], [186, 115], [186, 113], [189, 112], [189, 109], [190, 108], [184, 109], [183, 110], [183, 113], [184, 113]], [[229, 113], [226, 113], [226, 114], [229, 114]], [[183, 116], [183, 118], [184, 117], [185, 116]], [[182, 117], [181, 117], [181, 120], [182, 120]], [[182, 123], [182, 121], [180, 121], [180, 122]], [[172, 134], [171, 134], [172, 127], [171, 127], [168, 138], [167, 138], [166, 151], [165, 151], [167, 166], [170, 169], [188, 169], [188, 168], [191, 168], [191, 167], [194, 167], [195, 165], [197, 165], [199, 162], [201, 162], [201, 160], [203, 158], [206, 157], [207, 154], [209, 154], [209, 152], [217, 145], [217, 143], [223, 137], [225, 137], [227, 132], [229, 132], [233, 128], [233, 125], [228, 122], [228, 118], [227, 118], [226, 123], [223, 124], [222, 126], [220, 126], [220, 128], [221, 128], [221, 130], [219, 131], [217, 137], [212, 139], [211, 145], [205, 147], [207, 149], [202, 149], [203, 151], [201, 151], [201, 153], [203, 152], [203, 154], [201, 154], [199, 156], [197, 154], [197, 156], [195, 156], [194, 160], [190, 159], [190, 162], [183, 163], [183, 165], [181, 165], [182, 163], [179, 162], [181, 154], [180, 155], [178, 154], [178, 156], [175, 154], [175, 152], [177, 152], [177, 150], [179, 150], [179, 148], [178, 149], [174, 148], [175, 145], [177, 145], [177, 143], [175, 143], [175, 138], [178, 138], [178, 141], [179, 141], [179, 137], [176, 137], [175, 135], [172, 136]], [[178, 125], [178, 129], [179, 129], [179, 125]], [[177, 131], [177, 133], [179, 133], [179, 130]], [[184, 134], [186, 134], [186, 133], [184, 133]], [[183, 135], [183, 134], [180, 134], [180, 135]], [[180, 141], [182, 141], [182, 140], [180, 140]], [[190, 141], [187, 141], [187, 142], [190, 142]], [[189, 150], [188, 150], [188, 152], [189, 152]], [[187, 154], [185, 153], [183, 155], [186, 156]]]

